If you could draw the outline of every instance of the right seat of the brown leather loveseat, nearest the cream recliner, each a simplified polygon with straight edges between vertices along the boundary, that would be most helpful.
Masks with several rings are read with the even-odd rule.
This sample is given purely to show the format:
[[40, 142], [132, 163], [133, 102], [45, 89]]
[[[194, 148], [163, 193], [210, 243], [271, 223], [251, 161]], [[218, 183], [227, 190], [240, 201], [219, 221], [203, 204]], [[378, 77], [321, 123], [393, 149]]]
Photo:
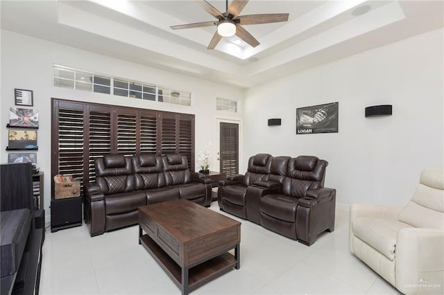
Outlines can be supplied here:
[[323, 188], [327, 165], [317, 157], [291, 159], [282, 192], [260, 199], [262, 226], [307, 245], [334, 231], [336, 190]]

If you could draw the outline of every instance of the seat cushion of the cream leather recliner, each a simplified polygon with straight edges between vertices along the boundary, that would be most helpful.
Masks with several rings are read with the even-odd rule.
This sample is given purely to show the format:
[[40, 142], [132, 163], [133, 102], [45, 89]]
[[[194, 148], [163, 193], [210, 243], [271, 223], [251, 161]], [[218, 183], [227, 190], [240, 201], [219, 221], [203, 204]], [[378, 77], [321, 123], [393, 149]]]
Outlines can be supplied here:
[[398, 220], [358, 217], [353, 220], [352, 231], [359, 239], [393, 261], [398, 231], [406, 227], [412, 226]]

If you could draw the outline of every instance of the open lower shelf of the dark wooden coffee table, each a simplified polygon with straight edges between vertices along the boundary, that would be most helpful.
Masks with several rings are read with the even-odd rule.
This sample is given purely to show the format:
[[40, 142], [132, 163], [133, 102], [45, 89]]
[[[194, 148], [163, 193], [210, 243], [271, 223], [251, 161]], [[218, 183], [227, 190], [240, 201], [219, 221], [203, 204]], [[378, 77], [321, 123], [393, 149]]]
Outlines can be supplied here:
[[[237, 267], [237, 260], [231, 253], [225, 252], [210, 258], [188, 269], [188, 286], [182, 285], [182, 267], [176, 263], [162, 248], [160, 248], [148, 235], [139, 238], [142, 246], [148, 251], [157, 263], [164, 269], [173, 282], [182, 290], [188, 292], [205, 285], [230, 269]], [[239, 246], [238, 246], [239, 247]], [[185, 269], [186, 271], [186, 269]]]

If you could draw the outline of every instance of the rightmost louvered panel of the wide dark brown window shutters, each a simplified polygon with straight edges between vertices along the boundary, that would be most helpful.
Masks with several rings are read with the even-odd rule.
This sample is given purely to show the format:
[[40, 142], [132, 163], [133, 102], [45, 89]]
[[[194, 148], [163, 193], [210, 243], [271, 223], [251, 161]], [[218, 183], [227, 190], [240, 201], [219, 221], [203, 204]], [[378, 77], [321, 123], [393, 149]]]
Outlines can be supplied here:
[[194, 167], [192, 157], [194, 155], [194, 116], [179, 115], [179, 150], [178, 154], [187, 157], [188, 168]]

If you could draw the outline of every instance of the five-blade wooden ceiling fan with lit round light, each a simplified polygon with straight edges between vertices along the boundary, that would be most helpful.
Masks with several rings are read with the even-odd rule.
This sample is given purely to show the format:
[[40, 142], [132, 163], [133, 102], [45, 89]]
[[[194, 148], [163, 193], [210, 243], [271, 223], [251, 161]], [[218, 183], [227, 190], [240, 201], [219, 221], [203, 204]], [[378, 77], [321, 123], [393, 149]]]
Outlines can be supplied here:
[[250, 24], [269, 24], [280, 21], [288, 21], [288, 13], [268, 13], [263, 15], [239, 15], [244, 9], [248, 0], [233, 0], [228, 6], [228, 0], [226, 3], [226, 11], [220, 12], [210, 3], [205, 0], [196, 0], [198, 5], [206, 12], [210, 13], [213, 17], [216, 17], [217, 21], [204, 21], [194, 24], [183, 24], [178, 26], [171, 26], [173, 30], [180, 30], [184, 28], [202, 28], [205, 26], [217, 26], [217, 30], [213, 35], [207, 49], [214, 49], [216, 45], [221, 41], [222, 37], [231, 37], [237, 35], [240, 39], [244, 40], [250, 46], [256, 47], [259, 42], [253, 35], [247, 32], [241, 25]]

